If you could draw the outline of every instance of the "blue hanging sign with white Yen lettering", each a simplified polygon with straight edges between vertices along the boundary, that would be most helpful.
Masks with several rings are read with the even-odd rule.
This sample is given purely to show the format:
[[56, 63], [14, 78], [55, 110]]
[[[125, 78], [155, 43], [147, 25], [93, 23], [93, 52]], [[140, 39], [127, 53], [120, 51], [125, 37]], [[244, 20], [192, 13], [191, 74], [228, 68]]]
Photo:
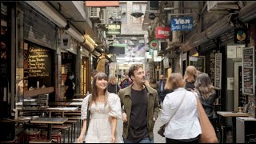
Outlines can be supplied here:
[[170, 27], [172, 31], [192, 30], [193, 17], [171, 18]]

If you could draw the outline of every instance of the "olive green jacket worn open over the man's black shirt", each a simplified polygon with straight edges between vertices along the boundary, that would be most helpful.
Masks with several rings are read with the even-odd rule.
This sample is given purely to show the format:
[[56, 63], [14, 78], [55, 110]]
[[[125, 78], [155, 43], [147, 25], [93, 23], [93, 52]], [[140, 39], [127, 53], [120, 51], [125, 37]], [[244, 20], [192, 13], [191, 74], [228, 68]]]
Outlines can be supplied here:
[[[130, 127], [130, 111], [131, 111], [131, 86], [127, 86], [125, 89], [121, 89], [118, 92], [118, 96], [121, 100], [122, 113], [126, 113], [127, 122], [123, 122], [123, 137], [128, 137], [128, 130]], [[158, 103], [158, 92], [150, 86], [145, 86], [148, 96], [147, 105], [147, 130], [150, 138], [154, 138], [153, 128], [154, 121], [153, 118], [158, 118], [159, 103]]]

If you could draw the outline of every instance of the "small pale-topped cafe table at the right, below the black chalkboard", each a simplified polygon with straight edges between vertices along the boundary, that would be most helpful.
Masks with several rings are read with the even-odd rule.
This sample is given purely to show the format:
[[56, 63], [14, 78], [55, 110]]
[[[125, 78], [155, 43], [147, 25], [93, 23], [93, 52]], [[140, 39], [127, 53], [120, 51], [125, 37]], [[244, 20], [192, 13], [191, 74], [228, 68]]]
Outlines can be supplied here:
[[217, 111], [217, 114], [219, 114], [223, 118], [232, 118], [232, 138], [233, 143], [236, 143], [236, 117], [249, 117], [250, 114], [232, 111]]

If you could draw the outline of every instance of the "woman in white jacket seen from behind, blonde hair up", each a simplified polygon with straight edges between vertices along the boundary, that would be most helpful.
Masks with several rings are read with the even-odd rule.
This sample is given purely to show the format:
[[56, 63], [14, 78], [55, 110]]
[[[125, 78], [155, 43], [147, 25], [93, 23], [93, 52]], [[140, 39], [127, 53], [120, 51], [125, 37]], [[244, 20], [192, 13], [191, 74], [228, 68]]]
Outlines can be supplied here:
[[201, 126], [198, 119], [198, 104], [194, 94], [184, 88], [182, 74], [170, 74], [165, 89], [174, 90], [166, 94], [162, 103], [162, 122], [166, 124], [166, 143], [198, 143]]

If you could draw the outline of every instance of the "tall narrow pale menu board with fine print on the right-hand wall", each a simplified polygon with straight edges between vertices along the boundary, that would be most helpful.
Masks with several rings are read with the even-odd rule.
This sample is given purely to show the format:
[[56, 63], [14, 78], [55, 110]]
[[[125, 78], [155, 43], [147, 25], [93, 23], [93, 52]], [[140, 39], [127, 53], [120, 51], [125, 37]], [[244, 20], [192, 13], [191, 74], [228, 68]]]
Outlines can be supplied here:
[[215, 78], [214, 87], [217, 90], [222, 89], [222, 54], [215, 54]]

